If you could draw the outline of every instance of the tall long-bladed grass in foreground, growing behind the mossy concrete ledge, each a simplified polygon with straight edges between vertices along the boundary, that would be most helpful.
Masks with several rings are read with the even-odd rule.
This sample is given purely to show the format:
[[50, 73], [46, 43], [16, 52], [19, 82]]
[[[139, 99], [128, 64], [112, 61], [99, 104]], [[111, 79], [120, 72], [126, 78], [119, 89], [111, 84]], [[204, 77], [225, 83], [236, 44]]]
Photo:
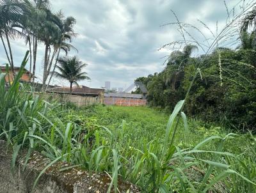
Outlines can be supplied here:
[[[21, 68], [26, 64], [26, 58], [27, 54]], [[118, 178], [138, 185], [142, 192], [207, 192], [216, 190], [220, 184], [227, 185], [226, 181], [240, 181], [241, 187], [234, 187], [236, 192], [255, 190], [255, 169], [247, 166], [253, 160], [242, 161], [223, 151], [226, 141], [235, 135], [215, 135], [187, 148], [175, 145], [177, 132], [182, 129], [188, 134], [188, 121], [181, 112], [184, 100], [170, 115], [164, 135], [148, 140], [139, 130], [129, 132], [125, 121], [116, 129], [100, 127], [93, 118], [86, 117], [79, 121], [73, 117], [66, 123], [63, 117], [56, 116], [60, 105], [49, 104], [33, 93], [22, 91], [21, 75], [22, 71], [6, 88], [4, 75], [0, 74], [1, 122], [4, 123], [1, 138], [13, 146], [12, 167], [19, 150], [28, 148], [27, 160], [33, 150], [41, 151], [52, 159], [47, 167], [65, 160], [89, 171], [108, 173], [112, 179], [109, 191], [118, 192]], [[69, 116], [70, 111], [63, 113]], [[180, 121], [184, 124], [178, 125]], [[131, 135], [138, 135], [140, 139], [136, 146]], [[208, 144], [215, 144], [214, 141], [218, 145], [208, 149]], [[200, 178], [194, 178], [193, 170], [202, 171]]]

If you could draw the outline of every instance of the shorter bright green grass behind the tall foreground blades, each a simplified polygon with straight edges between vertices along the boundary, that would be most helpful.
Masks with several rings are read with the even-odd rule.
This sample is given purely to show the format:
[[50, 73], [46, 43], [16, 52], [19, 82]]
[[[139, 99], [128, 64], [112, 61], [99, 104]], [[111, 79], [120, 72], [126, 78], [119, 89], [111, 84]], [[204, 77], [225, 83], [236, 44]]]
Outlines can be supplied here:
[[[127, 137], [129, 136], [132, 146], [140, 148], [137, 146], [140, 141], [157, 141], [158, 143], [163, 143], [169, 115], [150, 107], [103, 107], [98, 105], [78, 111], [71, 110], [69, 111], [68, 118], [68, 121], [79, 119], [91, 120], [100, 126], [109, 128], [112, 132], [124, 127], [125, 135], [127, 135]], [[253, 157], [252, 150], [255, 149], [255, 138], [253, 135], [237, 134], [234, 130], [228, 132], [227, 128], [214, 125], [214, 123], [204, 123], [204, 121], [189, 118], [189, 133], [186, 134], [183, 124], [184, 123], [180, 121], [180, 126], [175, 137], [175, 145], [177, 146], [195, 146], [212, 135], [225, 137], [230, 133], [235, 133], [236, 135], [232, 135], [234, 139], [231, 138], [225, 142], [225, 144], [227, 144], [225, 145], [225, 151], [238, 154], [243, 153]], [[99, 131], [102, 132], [103, 129]], [[229, 146], [229, 143], [232, 145]]]

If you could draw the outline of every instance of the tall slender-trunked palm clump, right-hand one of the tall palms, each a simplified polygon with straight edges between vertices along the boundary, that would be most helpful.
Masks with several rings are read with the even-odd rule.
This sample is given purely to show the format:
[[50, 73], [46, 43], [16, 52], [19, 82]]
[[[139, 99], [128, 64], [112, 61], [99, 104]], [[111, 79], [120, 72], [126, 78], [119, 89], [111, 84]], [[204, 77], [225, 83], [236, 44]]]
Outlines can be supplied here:
[[42, 91], [44, 91], [54, 58], [56, 58], [55, 70], [60, 50], [64, 50], [67, 55], [67, 52], [74, 48], [70, 43], [65, 41], [71, 42], [72, 37], [75, 36], [74, 24], [76, 24], [76, 20], [73, 17], [67, 17], [65, 19], [61, 11], [56, 14], [52, 13], [48, 0], [24, 1], [30, 12], [24, 15], [20, 27], [26, 34], [26, 43], [29, 43], [30, 50], [31, 43], [33, 43], [33, 75], [35, 75], [38, 42], [42, 42], [45, 45], [42, 86]]

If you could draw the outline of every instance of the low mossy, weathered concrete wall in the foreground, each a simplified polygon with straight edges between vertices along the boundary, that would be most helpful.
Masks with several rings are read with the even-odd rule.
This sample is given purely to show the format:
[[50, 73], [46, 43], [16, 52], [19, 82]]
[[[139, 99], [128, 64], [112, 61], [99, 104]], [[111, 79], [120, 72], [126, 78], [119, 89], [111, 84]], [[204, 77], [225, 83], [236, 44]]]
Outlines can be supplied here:
[[[33, 184], [38, 174], [51, 162], [49, 158], [45, 158], [38, 152], [33, 152], [23, 170], [25, 157], [26, 151], [18, 155], [15, 169], [11, 173], [12, 153], [7, 151], [6, 142], [0, 141], [0, 192], [32, 192]], [[70, 166], [70, 164], [65, 162], [53, 164], [42, 174], [33, 192], [108, 192], [111, 179], [107, 174], [92, 172], [90, 175], [88, 171], [84, 171], [79, 167], [60, 171], [61, 168]], [[121, 180], [118, 180], [118, 189], [121, 193], [140, 192], [136, 186]], [[111, 192], [114, 192], [114, 190], [112, 189]]]

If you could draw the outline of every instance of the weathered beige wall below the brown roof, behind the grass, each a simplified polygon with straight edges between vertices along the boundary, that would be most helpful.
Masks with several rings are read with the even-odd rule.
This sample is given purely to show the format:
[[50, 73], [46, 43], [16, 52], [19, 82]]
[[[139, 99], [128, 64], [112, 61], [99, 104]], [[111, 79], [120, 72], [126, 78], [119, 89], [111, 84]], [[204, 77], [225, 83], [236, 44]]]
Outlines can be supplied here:
[[79, 96], [79, 95], [65, 95], [56, 93], [44, 93], [44, 98], [48, 100], [57, 100], [59, 102], [72, 102], [78, 107], [83, 107], [92, 104], [103, 104], [101, 96]]

